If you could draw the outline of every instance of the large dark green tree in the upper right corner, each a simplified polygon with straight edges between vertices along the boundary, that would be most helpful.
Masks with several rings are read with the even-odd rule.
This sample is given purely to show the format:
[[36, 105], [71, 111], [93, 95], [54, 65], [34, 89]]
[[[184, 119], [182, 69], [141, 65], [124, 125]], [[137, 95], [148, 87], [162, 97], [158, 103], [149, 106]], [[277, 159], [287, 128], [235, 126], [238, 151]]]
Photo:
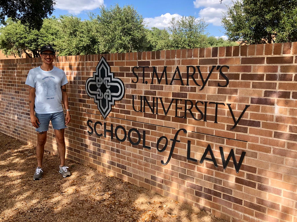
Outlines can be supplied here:
[[296, 4], [297, 0], [236, 0], [222, 18], [225, 34], [241, 44], [296, 41]]

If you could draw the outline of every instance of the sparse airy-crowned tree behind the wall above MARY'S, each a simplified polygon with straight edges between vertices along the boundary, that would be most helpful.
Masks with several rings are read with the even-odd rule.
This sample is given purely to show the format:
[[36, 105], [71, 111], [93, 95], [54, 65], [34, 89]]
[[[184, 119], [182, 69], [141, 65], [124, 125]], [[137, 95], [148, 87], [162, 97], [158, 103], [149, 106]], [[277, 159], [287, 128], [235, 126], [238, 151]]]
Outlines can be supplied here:
[[207, 36], [204, 34], [206, 23], [194, 16], [175, 17], [169, 23], [171, 32], [171, 49], [193, 49], [207, 47]]

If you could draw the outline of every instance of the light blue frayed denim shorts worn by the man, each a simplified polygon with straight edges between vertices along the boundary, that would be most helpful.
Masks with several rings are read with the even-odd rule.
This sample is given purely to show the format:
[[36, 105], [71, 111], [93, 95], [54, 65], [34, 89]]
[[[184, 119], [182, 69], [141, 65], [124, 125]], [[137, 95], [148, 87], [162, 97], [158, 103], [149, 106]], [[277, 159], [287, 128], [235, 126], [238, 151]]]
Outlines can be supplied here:
[[59, 130], [66, 128], [65, 116], [63, 111], [50, 114], [35, 113], [35, 116], [38, 118], [40, 122], [40, 124], [38, 124], [39, 128], [36, 129], [37, 132], [48, 131], [50, 121], [52, 121], [52, 126], [54, 129]]

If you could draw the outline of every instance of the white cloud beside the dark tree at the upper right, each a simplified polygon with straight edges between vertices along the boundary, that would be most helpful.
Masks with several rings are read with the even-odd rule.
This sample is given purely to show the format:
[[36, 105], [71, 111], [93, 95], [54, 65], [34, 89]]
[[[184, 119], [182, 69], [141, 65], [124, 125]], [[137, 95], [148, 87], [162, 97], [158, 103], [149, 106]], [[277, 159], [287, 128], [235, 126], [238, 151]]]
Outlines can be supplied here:
[[221, 26], [221, 19], [227, 12], [226, 5], [232, 5], [231, 0], [223, 0], [222, 4], [219, 0], [195, 0], [194, 7], [200, 9], [199, 17], [203, 17], [206, 23]]

